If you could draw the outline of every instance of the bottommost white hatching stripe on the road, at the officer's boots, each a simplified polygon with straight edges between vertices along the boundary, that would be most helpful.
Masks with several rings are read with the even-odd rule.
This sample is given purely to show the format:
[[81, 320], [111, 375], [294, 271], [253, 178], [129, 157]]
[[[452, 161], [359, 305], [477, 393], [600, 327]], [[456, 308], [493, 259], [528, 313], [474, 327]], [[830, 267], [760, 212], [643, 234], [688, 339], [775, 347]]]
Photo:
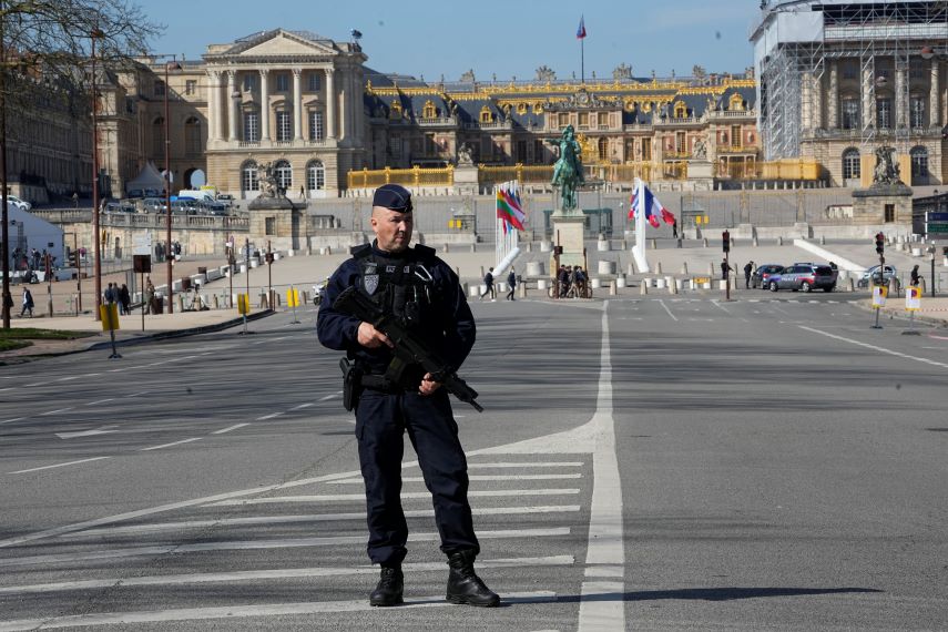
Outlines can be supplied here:
[[[441, 564], [444, 567], [444, 564]], [[376, 570], [376, 572], [378, 572]], [[546, 603], [557, 600], [555, 592], [534, 591], [504, 593], [506, 602]], [[620, 602], [621, 603], [621, 602]], [[444, 594], [407, 598], [397, 610], [406, 608], [445, 608], [451, 604]], [[116, 623], [161, 623], [169, 621], [207, 621], [214, 619], [237, 619], [246, 616], [289, 616], [298, 614], [325, 614], [330, 612], [377, 612], [368, 600], [354, 601], [308, 601], [297, 603], [275, 603], [269, 605], [224, 605], [215, 608], [185, 608], [180, 610], [145, 610], [141, 612], [106, 612], [103, 614], [72, 614], [45, 619], [21, 619], [0, 623], [0, 632], [39, 630], [53, 628], [79, 628], [109, 625]]]

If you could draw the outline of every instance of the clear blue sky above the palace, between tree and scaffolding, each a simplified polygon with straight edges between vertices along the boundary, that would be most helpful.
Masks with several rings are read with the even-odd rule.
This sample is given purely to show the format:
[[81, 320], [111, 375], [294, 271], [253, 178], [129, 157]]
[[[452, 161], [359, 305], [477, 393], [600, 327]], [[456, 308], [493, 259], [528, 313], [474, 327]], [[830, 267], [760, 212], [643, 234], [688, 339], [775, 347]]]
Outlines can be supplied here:
[[[636, 77], [652, 70], [691, 74], [742, 72], [753, 63], [747, 41], [760, 0], [600, 0], [563, 2], [416, 2], [411, 0], [162, 0], [142, 2], [145, 13], [166, 26], [151, 42], [156, 53], [197, 59], [210, 43], [226, 43], [256, 31], [283, 27], [309, 30], [334, 40], [363, 33], [368, 65], [383, 72], [441, 74], [455, 80], [473, 69], [479, 80], [532, 79], [548, 65], [560, 79], [580, 74], [575, 39], [585, 17], [585, 75], [612, 77], [624, 62]], [[499, 9], [498, 9], [499, 8]], [[290, 19], [289, 17], [294, 17]]]

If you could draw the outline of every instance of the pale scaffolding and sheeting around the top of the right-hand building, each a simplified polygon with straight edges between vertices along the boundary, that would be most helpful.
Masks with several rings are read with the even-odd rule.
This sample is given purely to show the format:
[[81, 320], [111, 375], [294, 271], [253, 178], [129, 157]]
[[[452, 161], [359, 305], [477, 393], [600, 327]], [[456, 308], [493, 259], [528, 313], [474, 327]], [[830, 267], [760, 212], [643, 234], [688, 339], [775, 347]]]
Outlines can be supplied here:
[[[764, 160], [799, 157], [804, 143], [822, 139], [850, 140], [863, 155], [884, 143], [905, 155], [920, 136], [940, 140], [948, 1], [767, 0], [751, 41]], [[910, 96], [928, 68], [926, 118]], [[840, 101], [854, 80], [857, 96]]]

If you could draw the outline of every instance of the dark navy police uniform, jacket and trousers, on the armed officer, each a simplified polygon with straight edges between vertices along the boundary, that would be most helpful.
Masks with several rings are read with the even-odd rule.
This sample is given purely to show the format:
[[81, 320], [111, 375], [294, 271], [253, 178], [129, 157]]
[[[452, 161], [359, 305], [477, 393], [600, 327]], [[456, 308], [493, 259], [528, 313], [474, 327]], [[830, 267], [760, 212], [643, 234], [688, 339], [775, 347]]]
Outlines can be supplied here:
[[[452, 368], [461, 366], [475, 343], [475, 320], [457, 275], [435, 255], [417, 245], [391, 254], [371, 246], [353, 248], [353, 258], [329, 278], [316, 324], [319, 342], [345, 350], [365, 374], [381, 376], [393, 354], [388, 347], [368, 349], [358, 344], [359, 320], [333, 309], [336, 297], [357, 286], [389, 314], [401, 317]], [[448, 393], [418, 393], [424, 370], [406, 371], [404, 383], [379, 390], [365, 388], [356, 407], [356, 437], [366, 486], [369, 528], [368, 555], [383, 565], [400, 564], [406, 555], [408, 526], [401, 509], [402, 434], [418, 455], [425, 483], [431, 491], [441, 550], [480, 550], [468, 504], [467, 460], [458, 440]], [[368, 381], [368, 380], [367, 380]]]

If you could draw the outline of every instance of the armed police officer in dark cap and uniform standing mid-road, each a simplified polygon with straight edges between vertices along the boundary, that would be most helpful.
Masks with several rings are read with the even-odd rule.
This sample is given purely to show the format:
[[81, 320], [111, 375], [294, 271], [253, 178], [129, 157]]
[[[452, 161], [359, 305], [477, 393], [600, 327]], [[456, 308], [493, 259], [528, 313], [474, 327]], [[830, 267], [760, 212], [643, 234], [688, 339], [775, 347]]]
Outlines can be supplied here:
[[[441, 551], [448, 557], [446, 599], [452, 603], [496, 606], [500, 598], [473, 570], [480, 551], [468, 503], [467, 460], [448, 394], [419, 366], [395, 371], [391, 342], [369, 323], [333, 308], [336, 297], [357, 287], [398, 317], [457, 369], [475, 343], [475, 322], [458, 277], [422, 245], [409, 247], [411, 194], [386, 184], [373, 197], [373, 244], [353, 248], [353, 258], [329, 278], [316, 323], [319, 342], [345, 350], [361, 386], [354, 402], [359, 461], [366, 486], [369, 529], [367, 551], [381, 577], [369, 603], [402, 602], [401, 562], [408, 526], [401, 509], [402, 435], [418, 455], [431, 491]], [[406, 367], [400, 367], [406, 368]], [[391, 384], [387, 376], [398, 376]]]

